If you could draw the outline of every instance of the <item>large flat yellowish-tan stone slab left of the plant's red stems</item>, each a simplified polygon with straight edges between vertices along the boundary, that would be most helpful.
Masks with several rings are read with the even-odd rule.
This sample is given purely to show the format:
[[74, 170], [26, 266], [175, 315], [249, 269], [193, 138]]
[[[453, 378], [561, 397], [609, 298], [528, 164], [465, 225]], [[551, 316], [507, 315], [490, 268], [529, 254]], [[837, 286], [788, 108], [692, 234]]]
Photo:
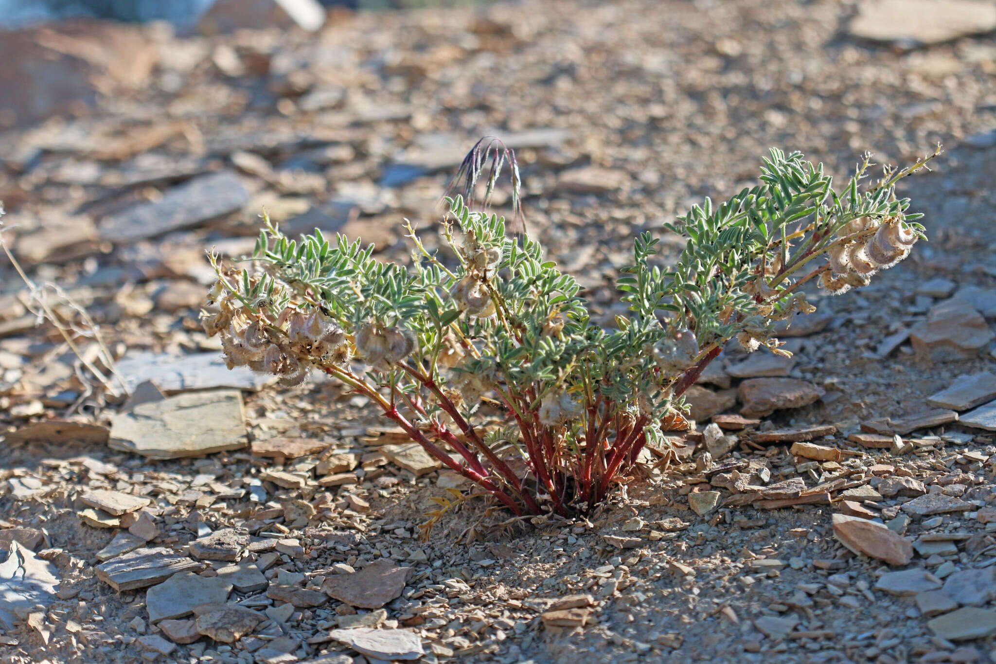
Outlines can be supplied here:
[[114, 417], [109, 445], [155, 459], [237, 450], [246, 445], [242, 393], [177, 394]]

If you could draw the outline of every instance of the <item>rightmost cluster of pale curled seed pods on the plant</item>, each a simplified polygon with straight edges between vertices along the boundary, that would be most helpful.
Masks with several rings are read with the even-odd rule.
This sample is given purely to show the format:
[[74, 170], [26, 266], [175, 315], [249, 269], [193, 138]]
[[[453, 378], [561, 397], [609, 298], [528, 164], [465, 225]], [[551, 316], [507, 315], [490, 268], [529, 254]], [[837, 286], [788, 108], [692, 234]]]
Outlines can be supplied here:
[[[870, 217], [855, 219], [842, 229], [842, 237], [874, 227]], [[892, 267], [906, 256], [917, 240], [916, 233], [901, 219], [890, 217], [861, 240], [840, 243], [828, 252], [830, 271], [823, 273], [821, 285], [833, 295], [852, 287], [868, 286], [871, 276]]]

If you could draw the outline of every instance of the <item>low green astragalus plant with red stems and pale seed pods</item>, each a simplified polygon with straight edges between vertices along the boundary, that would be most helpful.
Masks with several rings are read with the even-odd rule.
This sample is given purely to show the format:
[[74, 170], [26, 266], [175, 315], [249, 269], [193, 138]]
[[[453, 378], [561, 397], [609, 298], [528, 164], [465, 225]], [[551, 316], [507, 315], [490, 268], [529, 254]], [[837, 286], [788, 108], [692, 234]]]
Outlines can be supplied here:
[[[323, 371], [370, 397], [515, 515], [584, 513], [645, 445], [686, 426], [682, 393], [727, 341], [784, 354], [772, 331], [813, 311], [804, 284], [843, 293], [909, 253], [923, 228], [894, 186], [936, 153], [874, 183], [866, 158], [836, 193], [822, 165], [771, 150], [757, 186], [670, 226], [688, 238], [672, 267], [655, 264], [649, 233], [635, 238], [619, 278], [628, 313], [607, 327], [535, 240], [459, 196], [441, 222], [450, 258], [408, 226], [404, 266], [361, 240], [298, 242], [266, 220], [246, 267], [215, 262], [203, 323], [230, 366], [284, 385]], [[506, 425], [485, 433], [482, 402]]]

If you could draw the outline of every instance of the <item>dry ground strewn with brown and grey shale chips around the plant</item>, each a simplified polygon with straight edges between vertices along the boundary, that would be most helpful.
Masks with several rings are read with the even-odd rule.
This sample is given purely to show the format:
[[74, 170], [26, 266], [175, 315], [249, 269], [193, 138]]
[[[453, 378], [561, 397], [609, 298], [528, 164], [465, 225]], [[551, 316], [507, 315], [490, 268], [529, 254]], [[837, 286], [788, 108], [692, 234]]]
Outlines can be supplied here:
[[[941, 14], [953, 21], [957, 3], [938, 4], [951, 5]], [[163, 460], [110, 448], [108, 427], [132, 404], [93, 384], [52, 328], [34, 328], [20, 280], [0, 263], [0, 538], [20, 538], [26, 564], [62, 579], [10, 624], [0, 603], [0, 655], [362, 664], [333, 636], [357, 632], [330, 630], [363, 626], [376, 628], [379, 647], [397, 636], [386, 629], [415, 635], [426, 662], [996, 659], [992, 434], [944, 413], [933, 422], [945, 423], [912, 431], [895, 422], [923, 414], [957, 376], [996, 365], [986, 321], [996, 318], [996, 40], [871, 43], [849, 34], [856, 11], [824, 1], [544, 0], [336, 15], [317, 35], [175, 39], [161, 27], [84, 25], [74, 39], [110, 53], [75, 51], [89, 54], [96, 106], [0, 136], [0, 199], [16, 226], [8, 237], [36, 280], [59, 284], [95, 317], [132, 387], [153, 375], [189, 400], [182, 408], [222, 404], [177, 419], [157, 410], [174, 400], [147, 391], [135, 412], [155, 413], [167, 442], [235, 408], [229, 429], [207, 438], [236, 449]], [[795, 337], [796, 361], [768, 369], [812, 383], [819, 400], [732, 432], [733, 455], [722, 459], [708, 432], [715, 459], [696, 446], [701, 434], [676, 441], [680, 458], [648, 458], [642, 477], [588, 520], [506, 522], [471, 501], [423, 543], [427, 499], [452, 478], [384, 448], [402, 441], [339, 387], [281, 392], [174, 358], [149, 373], [151, 356], [137, 353], [217, 352], [196, 323], [210, 279], [202, 252], [245, 251], [263, 205], [294, 229], [361, 234], [400, 260], [402, 217], [437, 243], [433, 203], [454, 154], [484, 133], [519, 145], [530, 232], [607, 316], [633, 234], [663, 234], [673, 256], [681, 242], [662, 224], [703, 195], [749, 183], [772, 145], [842, 175], [865, 149], [879, 162], [908, 161], [937, 141], [947, 150], [905, 185], [930, 243], [870, 288], [814, 294], [831, 314], [826, 328]], [[214, 171], [223, 174], [205, 176]], [[931, 314], [942, 302], [969, 305], [955, 305], [953, 318]], [[930, 316], [935, 338], [918, 340]], [[757, 375], [733, 367], [739, 359], [731, 349], [717, 366]], [[713, 390], [739, 380], [710, 379]], [[237, 391], [197, 391], [225, 386], [242, 388], [243, 411]], [[735, 413], [733, 397], [711, 398]], [[883, 418], [901, 429], [897, 440], [873, 422]], [[37, 428], [50, 419], [71, 424]], [[879, 438], [863, 438], [863, 423]], [[829, 452], [757, 442], [817, 425], [835, 427], [814, 441]], [[771, 488], [779, 482], [788, 484]], [[131, 498], [95, 497], [100, 489]], [[917, 510], [938, 501], [936, 514]], [[906, 564], [842, 546], [832, 515], [843, 513], [888, 522], [891, 535], [872, 529], [858, 546], [901, 550], [901, 535], [914, 545], [899, 553]], [[165, 599], [161, 589], [116, 590], [107, 578], [120, 577], [99, 576], [108, 567], [98, 555], [122, 533], [123, 549], [179, 553], [203, 578], [177, 574]], [[207, 548], [205, 538], [222, 542]], [[100, 555], [128, 560], [114, 553]], [[372, 580], [378, 558], [410, 570]], [[337, 579], [361, 569], [368, 576]], [[229, 590], [218, 579], [236, 571]], [[208, 611], [214, 628], [203, 615], [195, 622], [186, 604], [201, 592], [256, 613]], [[163, 610], [175, 617], [159, 622]], [[225, 643], [218, 624], [246, 634]]]

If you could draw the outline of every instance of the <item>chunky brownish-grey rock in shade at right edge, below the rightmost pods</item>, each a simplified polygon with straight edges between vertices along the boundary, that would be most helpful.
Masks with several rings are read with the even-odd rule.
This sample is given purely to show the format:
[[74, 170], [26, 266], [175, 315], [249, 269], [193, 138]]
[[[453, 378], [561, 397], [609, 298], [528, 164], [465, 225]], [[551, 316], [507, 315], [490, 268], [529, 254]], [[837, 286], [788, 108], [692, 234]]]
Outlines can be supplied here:
[[946, 300], [934, 305], [927, 320], [909, 331], [913, 349], [935, 362], [971, 359], [993, 338], [993, 332], [975, 309], [964, 300]]

